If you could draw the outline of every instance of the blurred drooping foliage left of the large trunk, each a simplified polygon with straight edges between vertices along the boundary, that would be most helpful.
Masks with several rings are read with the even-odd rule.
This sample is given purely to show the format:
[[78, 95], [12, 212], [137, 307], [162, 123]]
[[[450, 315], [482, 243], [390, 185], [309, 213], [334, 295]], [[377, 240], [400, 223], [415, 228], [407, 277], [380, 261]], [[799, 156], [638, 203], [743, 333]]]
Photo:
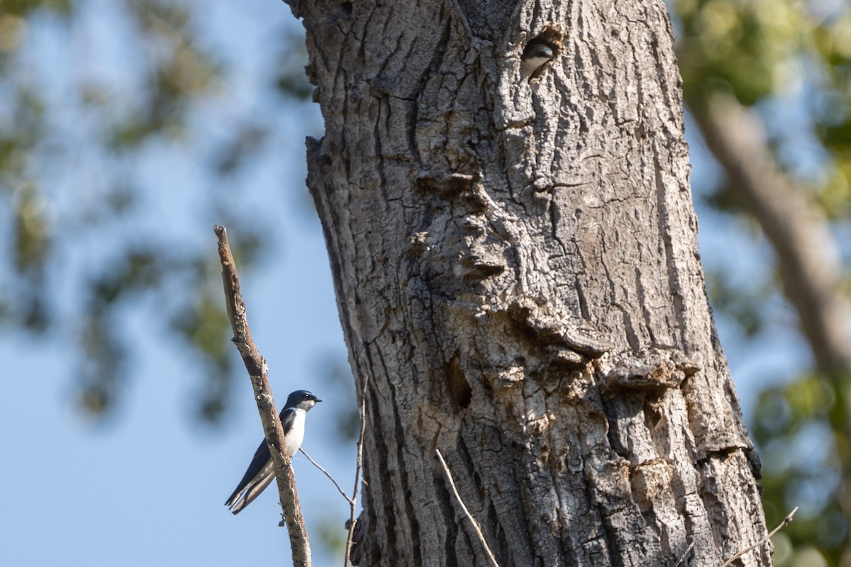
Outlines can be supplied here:
[[[191, 347], [181, 358], [187, 377], [203, 376], [203, 422], [218, 420], [242, 376], [212, 224], [230, 229], [240, 269], [258, 264], [277, 219], [241, 205], [240, 175], [280, 138], [269, 116], [217, 108], [236, 74], [206, 9], [0, 0], [0, 325], [64, 344], [79, 407], [93, 417], [114, 414], [134, 377], [133, 317], [161, 329], [163, 348]], [[281, 105], [304, 101], [304, 39], [284, 29], [276, 40], [263, 88]], [[220, 126], [214, 139], [210, 125]], [[166, 170], [169, 156], [203, 169], [205, 190], [146, 174]], [[187, 240], [184, 220], [203, 240]]]

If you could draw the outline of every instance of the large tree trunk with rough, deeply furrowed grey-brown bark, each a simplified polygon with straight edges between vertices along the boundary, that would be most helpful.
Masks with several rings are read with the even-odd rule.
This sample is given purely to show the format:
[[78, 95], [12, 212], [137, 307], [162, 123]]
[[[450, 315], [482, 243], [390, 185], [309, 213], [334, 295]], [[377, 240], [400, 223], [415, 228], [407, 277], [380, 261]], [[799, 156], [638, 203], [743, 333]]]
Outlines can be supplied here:
[[[721, 564], [765, 535], [661, 0], [300, 2], [367, 404], [356, 563]], [[555, 57], [528, 80], [524, 46]], [[741, 558], [768, 565], [770, 543]]]

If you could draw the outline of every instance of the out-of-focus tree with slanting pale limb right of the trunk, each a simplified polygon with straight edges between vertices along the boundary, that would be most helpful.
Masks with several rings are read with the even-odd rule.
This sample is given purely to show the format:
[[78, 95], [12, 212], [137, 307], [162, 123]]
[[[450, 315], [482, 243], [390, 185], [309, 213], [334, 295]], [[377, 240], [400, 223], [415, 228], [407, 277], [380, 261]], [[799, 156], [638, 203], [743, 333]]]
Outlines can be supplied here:
[[781, 536], [794, 551], [777, 564], [818, 550], [849, 565], [851, 7], [683, 0], [673, 10], [685, 99], [725, 174], [709, 201], [758, 226], [774, 252], [769, 285], [715, 286], [716, 306], [760, 337], [778, 324], [764, 306], [780, 293], [812, 353], [809, 371], [762, 392], [751, 424], [768, 524], [802, 507]]

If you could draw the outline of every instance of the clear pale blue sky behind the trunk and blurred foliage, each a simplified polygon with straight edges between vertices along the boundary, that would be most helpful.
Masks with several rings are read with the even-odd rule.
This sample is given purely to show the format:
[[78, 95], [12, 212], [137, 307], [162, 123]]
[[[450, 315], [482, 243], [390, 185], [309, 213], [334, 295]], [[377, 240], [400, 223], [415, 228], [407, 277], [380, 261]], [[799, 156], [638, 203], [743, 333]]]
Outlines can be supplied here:
[[[109, 3], [100, 0], [91, 6], [89, 31], [101, 30], [106, 38], [90, 41], [115, 41], [110, 38], [117, 32], [109, 25]], [[282, 30], [300, 32], [300, 24], [285, 4], [261, 0], [220, 5], [204, 14], [204, 25], [214, 30], [210, 41], [226, 54], [235, 79], [205, 109], [220, 120], [199, 124], [198, 131], [214, 138], [239, 112], [255, 111], [271, 115], [268, 119], [285, 133], [270, 150], [278, 159], [262, 160], [266, 165], [235, 180], [240, 190], [235, 207], [248, 213], [262, 207], [268, 218], [276, 219], [273, 239], [279, 243], [264, 252], [262, 266], [242, 274], [249, 322], [269, 361], [278, 403], [297, 388], [311, 389], [324, 400], [308, 415], [304, 448], [351, 490], [354, 446], [337, 439], [334, 417], [354, 400], [350, 390], [330, 388], [317, 378], [323, 360], [345, 360], [346, 352], [322, 231], [304, 207], [300, 184], [305, 176], [303, 140], [321, 134], [321, 118], [313, 105], [294, 103], [287, 109], [272, 104], [262, 84], [274, 55], [268, 48], [271, 38]], [[77, 45], [79, 38], [71, 36]], [[100, 50], [89, 47], [64, 54], [60, 43], [50, 42], [38, 49], [59, 66], [68, 57], [78, 58], [71, 65], [111, 77], [119, 93], [132, 91], [132, 82], [123, 82], [126, 63], [114, 54], [89, 60]], [[54, 96], [60, 96], [61, 89], [57, 83]], [[73, 123], [73, 116], [69, 119]], [[695, 129], [689, 127], [688, 134], [694, 190], [700, 196], [711, 187], [717, 169], [706, 161], [700, 140], [691, 136]], [[124, 230], [175, 230], [171, 227], [177, 225], [190, 246], [207, 247], [214, 257], [212, 226], [221, 219], [212, 210], [188, 210], [191, 191], [203, 191], [208, 183], [199, 159], [168, 148], [152, 150], [133, 171], [146, 185], [159, 188], [146, 195], [156, 213], [134, 219], [134, 226]], [[175, 193], [174, 179], [180, 180], [185, 194]], [[60, 184], [54, 196], [60, 217], [62, 207], [90, 197], [79, 191], [73, 184]], [[735, 280], [768, 277], [767, 245], [746, 225], [700, 207], [697, 197], [695, 201], [705, 264], [724, 266]], [[182, 222], [184, 218], [191, 222]], [[230, 236], [239, 238], [233, 232]], [[108, 242], [96, 240], [69, 248], [66, 269], [84, 270], [89, 254], [109, 251]], [[72, 291], [65, 289], [68, 298]], [[159, 303], [157, 298], [146, 302], [145, 309], [129, 312], [123, 321], [140, 354], [133, 360], [120, 415], [106, 424], [88, 422], [72, 404], [67, 371], [72, 337], [33, 341], [8, 330], [0, 334], [0, 479], [7, 486], [0, 513], [4, 564], [287, 564], [283, 558], [289, 554], [288, 537], [277, 527], [280, 507], [274, 490], [237, 517], [223, 505], [262, 435], [248, 378], [239, 377], [233, 394], [236, 409], [223, 427], [197, 427], [190, 417], [192, 396], [202, 383], [197, 369], [184, 345], [160, 340], [161, 329], [146, 315]], [[793, 377], [808, 360], [784, 304], [772, 306], [771, 322], [774, 332], [750, 343], [729, 321], [717, 320], [745, 412], [754, 404], [757, 388]], [[344, 536], [348, 505], [303, 457], [295, 458], [294, 467], [314, 563], [342, 564], [342, 558], [322, 546], [320, 533], [332, 526]]]

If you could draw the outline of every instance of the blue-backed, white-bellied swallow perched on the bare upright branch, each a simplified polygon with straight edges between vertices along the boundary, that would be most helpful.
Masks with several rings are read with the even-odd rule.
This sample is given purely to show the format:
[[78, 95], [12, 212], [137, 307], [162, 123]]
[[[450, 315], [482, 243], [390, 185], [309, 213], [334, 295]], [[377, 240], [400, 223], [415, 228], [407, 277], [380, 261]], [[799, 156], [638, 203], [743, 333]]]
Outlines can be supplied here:
[[[319, 400], [307, 390], [295, 390], [289, 394], [287, 404], [281, 410], [281, 425], [283, 426], [283, 445], [289, 456], [299, 450], [301, 441], [305, 439], [305, 416]], [[239, 481], [237, 490], [233, 491], [225, 505], [232, 513], [240, 513], [242, 509], [266, 490], [266, 486], [275, 479], [275, 464], [271, 460], [269, 445], [266, 439], [260, 442], [254, 459], [248, 465], [243, 479]]]

